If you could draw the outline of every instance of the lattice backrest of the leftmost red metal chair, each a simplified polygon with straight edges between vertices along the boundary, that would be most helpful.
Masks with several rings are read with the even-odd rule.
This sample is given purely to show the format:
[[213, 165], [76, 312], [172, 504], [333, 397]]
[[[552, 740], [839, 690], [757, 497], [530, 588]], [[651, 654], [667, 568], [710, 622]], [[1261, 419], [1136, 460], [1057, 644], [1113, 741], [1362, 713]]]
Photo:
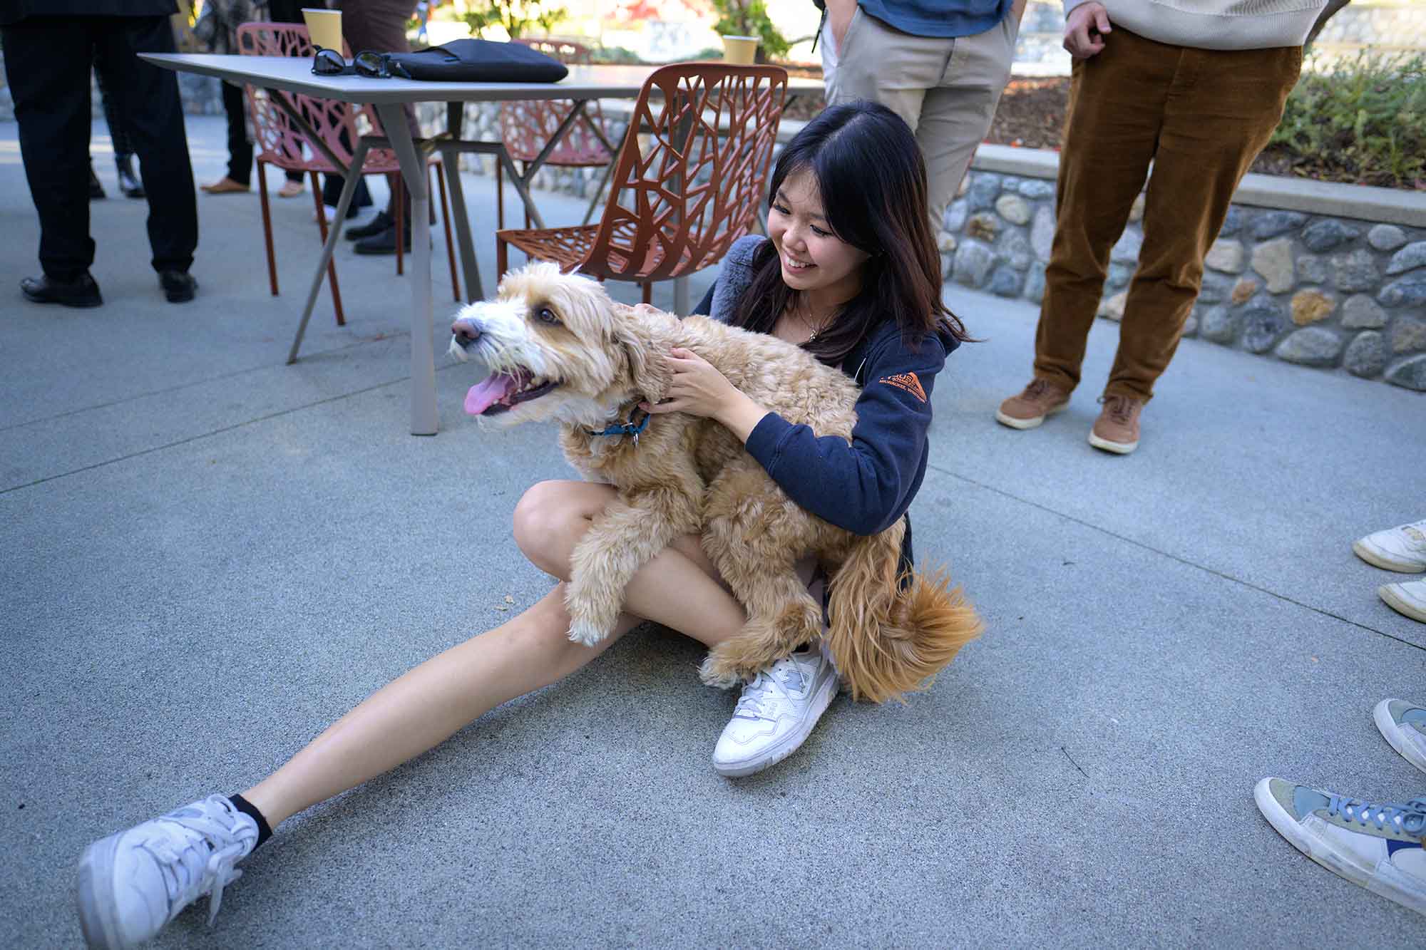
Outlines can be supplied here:
[[[244, 23], [238, 27], [238, 51], [244, 56], [311, 58], [315, 47], [301, 23]], [[352, 147], [356, 143], [356, 120], [351, 104], [297, 93], [278, 94], [288, 96], [312, 131], [338, 158], [344, 163], [351, 161]], [[281, 168], [331, 171], [332, 164], [321, 151], [307, 144], [307, 136], [272, 101], [272, 96], [270, 90], [247, 87], [248, 106], [252, 110], [252, 133], [258, 147], [257, 157]]]

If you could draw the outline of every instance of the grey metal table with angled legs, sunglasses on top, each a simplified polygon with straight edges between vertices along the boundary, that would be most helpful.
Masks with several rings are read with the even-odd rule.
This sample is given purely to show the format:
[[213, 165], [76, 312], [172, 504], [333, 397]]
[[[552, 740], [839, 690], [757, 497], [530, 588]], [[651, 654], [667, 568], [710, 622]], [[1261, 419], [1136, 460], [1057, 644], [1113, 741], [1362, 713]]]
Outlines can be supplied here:
[[[585, 106], [597, 98], [637, 98], [645, 80], [656, 67], [652, 66], [570, 66], [569, 76], [559, 83], [432, 83], [422, 80], [402, 78], [365, 78], [361, 76], [315, 76], [308, 58], [281, 56], [212, 56], [195, 53], [143, 53], [145, 60], [165, 68], [181, 73], [198, 73], [212, 76], [234, 84], [251, 84], [278, 93], [299, 93], [317, 98], [331, 98], [355, 106], [374, 106], [376, 117], [385, 130], [385, 138], [364, 137], [354, 154], [355, 167], [361, 167], [362, 155], [374, 145], [388, 145], [396, 153], [401, 163], [401, 175], [406, 191], [411, 195], [411, 221], [429, 220], [431, 195], [426, 191], [425, 157], [432, 151], [439, 151], [446, 168], [452, 171], [451, 203], [455, 214], [456, 240], [461, 245], [461, 265], [465, 274], [468, 300], [481, 300], [481, 274], [476, 270], [475, 244], [471, 238], [471, 220], [465, 210], [465, 193], [461, 185], [459, 164], [456, 155], [462, 151], [483, 153], [496, 155], [505, 163], [520, 200], [530, 213], [530, 220], [538, 227], [545, 223], [539, 208], [530, 200], [529, 181], [539, 171], [545, 158], [555, 148], [555, 144], [565, 134], [565, 130], [579, 118]], [[790, 93], [821, 91], [817, 80], [790, 80]], [[550, 136], [543, 151], [529, 163], [525, 173], [515, 170], [515, 164], [505, 153], [499, 141], [475, 141], [461, 137], [465, 117], [465, 103], [498, 103], [530, 98], [569, 100], [573, 108], [565, 123]], [[307, 128], [307, 120], [299, 110], [285, 96], [274, 96], [277, 104], [287, 111], [297, 123], [298, 128]], [[446, 103], [446, 131], [432, 137], [414, 140], [402, 106], [406, 103]], [[327, 245], [322, 248], [322, 258], [318, 262], [312, 285], [307, 297], [307, 307], [302, 321], [298, 325], [297, 338], [288, 354], [288, 362], [297, 359], [298, 347], [302, 342], [302, 332], [312, 314], [317, 295], [321, 291], [322, 271], [331, 260], [332, 251], [341, 235], [341, 227], [351, 204], [355, 190], [355, 174], [348, 174], [347, 163], [325, 147], [314, 134], [308, 136], [314, 148], [324, 153], [328, 161], [342, 170], [347, 187], [342, 190], [341, 201], [337, 207], [337, 223], [331, 228]], [[610, 153], [617, 148], [612, 143], [605, 143]], [[434, 332], [432, 304], [431, 304], [431, 244], [428, 241], [412, 241], [411, 260], [411, 432], [412, 435], [435, 435], [439, 425], [435, 395], [435, 352], [431, 345]], [[686, 282], [677, 287], [676, 297], [682, 297], [683, 307], [687, 308]]]

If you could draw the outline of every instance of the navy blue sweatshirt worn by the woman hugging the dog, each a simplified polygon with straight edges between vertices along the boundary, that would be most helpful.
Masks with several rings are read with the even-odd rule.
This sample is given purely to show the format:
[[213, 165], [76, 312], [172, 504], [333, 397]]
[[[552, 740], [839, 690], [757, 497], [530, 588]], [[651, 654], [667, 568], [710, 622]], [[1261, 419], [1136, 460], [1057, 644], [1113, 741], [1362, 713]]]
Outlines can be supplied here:
[[[700, 312], [732, 320], [752, 282], [753, 252], [766, 240], [749, 235], [729, 248]], [[850, 445], [840, 436], [817, 438], [810, 427], [769, 412], [749, 435], [747, 451], [789, 498], [823, 521], [858, 535], [890, 528], [925, 478], [931, 388], [957, 345], [943, 331], [910, 348], [897, 321], [886, 320], [841, 364], [861, 387]]]

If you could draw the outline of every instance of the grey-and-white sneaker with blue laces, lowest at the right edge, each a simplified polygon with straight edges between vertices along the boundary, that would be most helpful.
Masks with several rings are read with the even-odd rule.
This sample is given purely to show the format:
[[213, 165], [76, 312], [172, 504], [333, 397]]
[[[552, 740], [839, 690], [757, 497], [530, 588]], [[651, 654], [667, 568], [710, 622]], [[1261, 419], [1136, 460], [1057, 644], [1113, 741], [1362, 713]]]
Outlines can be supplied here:
[[1263, 817], [1318, 864], [1426, 914], [1426, 797], [1379, 805], [1263, 779], [1253, 800]]

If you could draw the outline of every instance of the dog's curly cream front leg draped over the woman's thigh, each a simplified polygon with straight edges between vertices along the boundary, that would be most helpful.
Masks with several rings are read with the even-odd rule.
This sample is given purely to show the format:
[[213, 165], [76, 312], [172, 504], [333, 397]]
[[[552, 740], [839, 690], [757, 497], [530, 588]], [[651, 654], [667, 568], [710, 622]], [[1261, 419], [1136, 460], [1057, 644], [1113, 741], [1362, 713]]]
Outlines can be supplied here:
[[679, 535], [702, 525], [699, 492], [660, 485], [622, 492], [593, 519], [570, 555], [565, 588], [569, 639], [592, 646], [609, 636], [623, 609], [623, 592], [639, 568]]

